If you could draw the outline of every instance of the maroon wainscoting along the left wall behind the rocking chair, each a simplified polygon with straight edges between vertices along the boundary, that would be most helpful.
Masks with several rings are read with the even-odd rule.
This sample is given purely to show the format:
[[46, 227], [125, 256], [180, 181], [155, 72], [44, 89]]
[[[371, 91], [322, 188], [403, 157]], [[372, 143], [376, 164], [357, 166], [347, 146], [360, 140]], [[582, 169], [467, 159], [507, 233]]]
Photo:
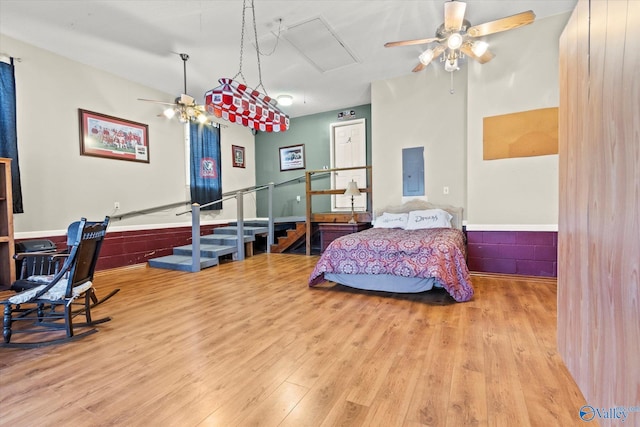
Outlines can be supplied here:
[[[214, 228], [225, 225], [202, 225], [200, 234], [211, 234]], [[51, 240], [58, 250], [67, 247], [66, 236], [42, 236], [37, 239]], [[16, 239], [16, 242], [25, 240], [33, 239]], [[171, 255], [174, 247], [188, 244], [191, 244], [191, 227], [107, 231], [96, 270], [145, 263], [149, 258]]]

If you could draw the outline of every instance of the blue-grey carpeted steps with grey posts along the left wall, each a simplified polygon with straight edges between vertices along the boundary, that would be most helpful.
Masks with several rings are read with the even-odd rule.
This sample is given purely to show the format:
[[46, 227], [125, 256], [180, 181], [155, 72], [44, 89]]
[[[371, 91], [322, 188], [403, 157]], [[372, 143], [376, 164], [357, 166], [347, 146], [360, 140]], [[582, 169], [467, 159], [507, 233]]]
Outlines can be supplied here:
[[[256, 235], [266, 234], [267, 227], [244, 226], [245, 254], [253, 254], [253, 242]], [[200, 236], [200, 269], [218, 265], [219, 258], [238, 252], [238, 227], [228, 226], [213, 229], [213, 234]], [[150, 267], [168, 270], [191, 271], [192, 245], [173, 248], [173, 254], [148, 260]]]

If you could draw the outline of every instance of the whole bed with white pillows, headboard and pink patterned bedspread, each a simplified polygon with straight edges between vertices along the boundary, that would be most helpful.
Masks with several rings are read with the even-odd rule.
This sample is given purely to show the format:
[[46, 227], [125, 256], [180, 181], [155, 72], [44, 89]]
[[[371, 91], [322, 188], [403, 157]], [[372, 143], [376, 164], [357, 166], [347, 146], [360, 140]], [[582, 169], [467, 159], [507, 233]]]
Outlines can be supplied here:
[[309, 286], [417, 293], [444, 288], [457, 302], [473, 287], [466, 263], [462, 208], [413, 200], [376, 212], [374, 227], [339, 237], [322, 253]]

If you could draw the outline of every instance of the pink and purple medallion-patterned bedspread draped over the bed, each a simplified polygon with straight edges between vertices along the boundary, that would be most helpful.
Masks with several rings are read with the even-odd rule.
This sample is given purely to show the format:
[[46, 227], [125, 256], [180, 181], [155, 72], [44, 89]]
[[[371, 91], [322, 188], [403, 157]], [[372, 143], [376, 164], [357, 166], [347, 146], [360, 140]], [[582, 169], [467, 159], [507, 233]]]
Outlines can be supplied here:
[[435, 277], [453, 299], [468, 301], [473, 287], [464, 240], [462, 231], [452, 228], [370, 228], [342, 236], [318, 260], [309, 286], [324, 282], [324, 273]]

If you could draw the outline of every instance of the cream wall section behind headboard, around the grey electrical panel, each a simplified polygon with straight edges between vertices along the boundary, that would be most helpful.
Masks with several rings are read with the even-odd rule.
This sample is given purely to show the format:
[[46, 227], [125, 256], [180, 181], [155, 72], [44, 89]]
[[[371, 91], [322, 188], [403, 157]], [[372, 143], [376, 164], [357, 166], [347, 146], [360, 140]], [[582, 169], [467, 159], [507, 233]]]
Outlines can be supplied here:
[[424, 147], [426, 194], [421, 199], [465, 206], [466, 67], [454, 74], [451, 94], [450, 74], [433, 65], [372, 83], [374, 210], [403, 202], [402, 149], [411, 147]]

